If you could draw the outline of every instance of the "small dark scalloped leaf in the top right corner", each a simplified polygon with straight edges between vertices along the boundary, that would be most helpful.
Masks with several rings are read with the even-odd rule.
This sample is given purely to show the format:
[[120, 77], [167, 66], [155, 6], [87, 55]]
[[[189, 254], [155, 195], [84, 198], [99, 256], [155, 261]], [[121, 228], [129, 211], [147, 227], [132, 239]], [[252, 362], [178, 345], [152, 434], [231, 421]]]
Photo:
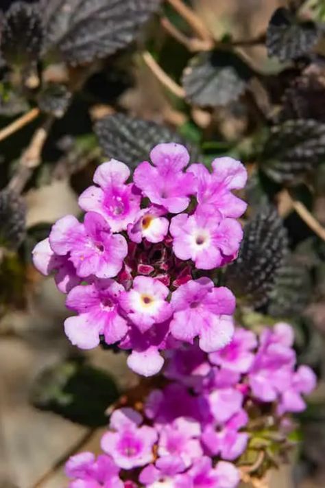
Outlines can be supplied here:
[[287, 61], [306, 54], [316, 43], [318, 30], [312, 21], [301, 22], [287, 8], [278, 8], [272, 15], [266, 33], [269, 56]]

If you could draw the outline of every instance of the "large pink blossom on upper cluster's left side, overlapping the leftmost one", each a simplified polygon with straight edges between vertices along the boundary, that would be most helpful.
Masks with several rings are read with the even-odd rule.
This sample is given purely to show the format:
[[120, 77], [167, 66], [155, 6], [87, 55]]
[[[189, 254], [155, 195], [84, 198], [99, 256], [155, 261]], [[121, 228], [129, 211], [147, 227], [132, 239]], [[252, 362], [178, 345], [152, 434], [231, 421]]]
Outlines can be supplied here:
[[69, 253], [79, 277], [115, 277], [128, 254], [125, 238], [112, 235], [104, 218], [95, 212], [86, 213], [84, 224], [73, 216], [58, 220], [52, 227], [49, 244], [60, 256]]

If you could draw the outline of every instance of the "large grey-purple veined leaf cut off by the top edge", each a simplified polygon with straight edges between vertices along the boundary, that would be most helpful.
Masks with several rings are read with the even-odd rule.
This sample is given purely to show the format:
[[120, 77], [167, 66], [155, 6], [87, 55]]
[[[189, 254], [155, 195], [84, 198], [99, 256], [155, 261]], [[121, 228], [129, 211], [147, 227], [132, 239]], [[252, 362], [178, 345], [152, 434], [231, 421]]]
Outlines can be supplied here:
[[67, 62], [90, 62], [130, 44], [160, 0], [40, 0], [46, 48]]

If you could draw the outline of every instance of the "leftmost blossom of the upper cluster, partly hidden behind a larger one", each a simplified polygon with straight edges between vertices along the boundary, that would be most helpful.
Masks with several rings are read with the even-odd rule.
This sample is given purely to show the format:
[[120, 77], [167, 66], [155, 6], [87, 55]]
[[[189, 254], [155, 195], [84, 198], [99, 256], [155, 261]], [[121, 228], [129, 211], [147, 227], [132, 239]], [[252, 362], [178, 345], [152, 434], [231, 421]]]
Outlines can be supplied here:
[[69, 255], [59, 256], [53, 253], [48, 238], [38, 242], [32, 254], [34, 266], [39, 272], [45, 276], [54, 273], [60, 292], [69, 293], [80, 283], [81, 278], [77, 276], [75, 267], [69, 261]]

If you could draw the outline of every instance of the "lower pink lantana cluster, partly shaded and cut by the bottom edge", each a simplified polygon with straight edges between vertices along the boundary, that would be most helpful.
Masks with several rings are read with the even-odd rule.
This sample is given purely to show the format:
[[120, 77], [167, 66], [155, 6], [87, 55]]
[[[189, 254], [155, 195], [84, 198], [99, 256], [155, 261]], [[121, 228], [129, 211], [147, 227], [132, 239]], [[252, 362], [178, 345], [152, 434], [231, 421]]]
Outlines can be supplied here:
[[149, 393], [141, 413], [112, 413], [104, 454], [70, 458], [69, 487], [237, 487], [237, 460], [250, 448], [256, 412], [259, 421], [267, 413], [273, 439], [285, 437], [289, 413], [304, 410], [302, 395], [315, 387], [313, 371], [296, 367], [292, 345], [285, 323], [260, 336], [236, 328], [215, 353], [179, 343], [163, 370], [169, 382]]

